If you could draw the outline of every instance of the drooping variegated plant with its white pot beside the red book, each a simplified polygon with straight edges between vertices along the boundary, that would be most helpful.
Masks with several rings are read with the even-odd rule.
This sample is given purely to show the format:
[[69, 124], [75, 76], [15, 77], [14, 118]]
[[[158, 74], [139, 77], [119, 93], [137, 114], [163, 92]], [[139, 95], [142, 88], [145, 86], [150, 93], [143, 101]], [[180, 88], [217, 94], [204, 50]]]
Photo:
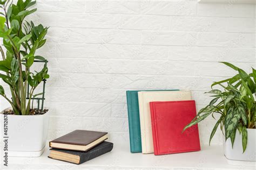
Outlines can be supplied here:
[[230, 79], [214, 82], [212, 88], [219, 85], [221, 89], [212, 89], [213, 100], [201, 109], [197, 116], [185, 126], [184, 130], [203, 121], [206, 117], [219, 114], [211, 136], [214, 136], [218, 126], [225, 136], [224, 153], [227, 159], [256, 161], [256, 70], [247, 74], [244, 70], [228, 62], [222, 62], [236, 70], [238, 74]]

